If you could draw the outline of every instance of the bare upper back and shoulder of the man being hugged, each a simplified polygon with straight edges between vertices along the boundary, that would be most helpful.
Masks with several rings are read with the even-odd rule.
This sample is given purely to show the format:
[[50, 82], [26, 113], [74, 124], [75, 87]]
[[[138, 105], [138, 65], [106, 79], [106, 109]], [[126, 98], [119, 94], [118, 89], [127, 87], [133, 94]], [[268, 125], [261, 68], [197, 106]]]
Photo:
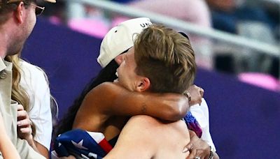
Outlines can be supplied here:
[[[145, 150], [149, 150], [148, 154], [153, 158], [186, 158], [188, 156], [188, 153], [182, 153], [183, 147], [190, 142], [188, 128], [183, 121], [165, 123], [151, 116], [132, 116], [123, 128], [120, 137], [126, 139], [119, 143], [120, 145], [130, 143], [128, 144], [131, 146], [129, 151], [133, 151], [133, 145], [137, 143], [137, 151], [144, 147]], [[162, 141], [165, 142], [162, 143]]]

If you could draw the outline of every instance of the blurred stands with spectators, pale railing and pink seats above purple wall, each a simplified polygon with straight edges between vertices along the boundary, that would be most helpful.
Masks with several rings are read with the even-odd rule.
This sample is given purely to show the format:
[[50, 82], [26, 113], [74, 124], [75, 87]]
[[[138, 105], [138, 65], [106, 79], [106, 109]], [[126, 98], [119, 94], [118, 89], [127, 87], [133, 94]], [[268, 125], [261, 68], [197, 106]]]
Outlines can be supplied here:
[[61, 0], [46, 5], [50, 22], [99, 38], [119, 22], [150, 17], [190, 35], [198, 66], [280, 77], [279, 0]]

